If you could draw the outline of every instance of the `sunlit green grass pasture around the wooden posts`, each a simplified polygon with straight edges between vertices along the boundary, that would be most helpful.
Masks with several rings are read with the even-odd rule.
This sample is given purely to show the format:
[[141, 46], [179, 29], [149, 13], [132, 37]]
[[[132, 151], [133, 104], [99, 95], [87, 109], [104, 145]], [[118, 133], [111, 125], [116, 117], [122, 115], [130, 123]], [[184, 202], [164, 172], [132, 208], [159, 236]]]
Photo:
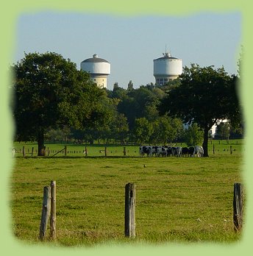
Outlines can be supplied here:
[[[38, 242], [43, 187], [55, 180], [57, 245], [238, 241], [232, 197], [234, 183], [243, 182], [243, 142], [230, 142], [235, 149], [232, 154], [226, 144], [215, 143], [215, 154], [210, 146], [210, 157], [200, 158], [138, 157], [136, 146], [126, 147], [131, 157], [121, 157], [123, 146], [108, 146], [109, 152], [120, 152], [109, 157], [99, 157], [103, 146], [89, 146], [90, 157], [16, 154], [10, 177], [13, 234], [28, 243]], [[51, 150], [64, 147], [49, 146]], [[71, 145], [68, 149], [72, 147], [83, 149]], [[98, 156], [92, 157], [95, 153]], [[137, 187], [135, 240], [124, 238], [124, 186], [128, 182]]]

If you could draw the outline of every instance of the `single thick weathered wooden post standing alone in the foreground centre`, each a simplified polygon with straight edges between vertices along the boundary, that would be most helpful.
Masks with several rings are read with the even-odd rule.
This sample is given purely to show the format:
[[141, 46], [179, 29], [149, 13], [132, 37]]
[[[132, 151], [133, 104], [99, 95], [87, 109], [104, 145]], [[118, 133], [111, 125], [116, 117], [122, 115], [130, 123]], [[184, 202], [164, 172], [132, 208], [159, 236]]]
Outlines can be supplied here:
[[128, 183], [125, 186], [125, 236], [135, 238], [135, 191], [136, 186]]

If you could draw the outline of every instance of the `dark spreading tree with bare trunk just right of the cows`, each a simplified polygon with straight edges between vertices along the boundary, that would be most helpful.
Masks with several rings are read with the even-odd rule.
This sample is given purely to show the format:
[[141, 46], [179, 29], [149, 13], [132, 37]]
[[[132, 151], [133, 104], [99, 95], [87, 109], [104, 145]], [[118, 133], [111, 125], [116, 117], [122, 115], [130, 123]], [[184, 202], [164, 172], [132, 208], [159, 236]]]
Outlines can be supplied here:
[[160, 113], [182, 118], [185, 124], [196, 123], [204, 130], [204, 157], [208, 157], [208, 132], [218, 120], [240, 121], [237, 93], [238, 79], [224, 68], [185, 67], [180, 85], [171, 88], [160, 104]]

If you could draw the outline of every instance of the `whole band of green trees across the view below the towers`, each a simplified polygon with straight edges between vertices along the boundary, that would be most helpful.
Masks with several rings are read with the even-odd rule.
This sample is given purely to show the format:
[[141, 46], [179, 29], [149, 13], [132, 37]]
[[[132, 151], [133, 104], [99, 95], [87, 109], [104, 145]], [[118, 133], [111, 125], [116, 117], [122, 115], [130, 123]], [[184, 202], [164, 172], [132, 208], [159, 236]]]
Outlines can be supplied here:
[[[160, 144], [206, 143], [218, 120], [221, 138], [243, 135], [238, 77], [192, 64], [167, 85], [100, 89], [60, 54], [25, 54], [12, 66], [15, 141]], [[186, 128], [184, 124], [188, 124]], [[203, 144], [204, 145], [204, 144]], [[207, 150], [207, 148], [205, 149]], [[207, 156], [207, 155], [206, 155]]]

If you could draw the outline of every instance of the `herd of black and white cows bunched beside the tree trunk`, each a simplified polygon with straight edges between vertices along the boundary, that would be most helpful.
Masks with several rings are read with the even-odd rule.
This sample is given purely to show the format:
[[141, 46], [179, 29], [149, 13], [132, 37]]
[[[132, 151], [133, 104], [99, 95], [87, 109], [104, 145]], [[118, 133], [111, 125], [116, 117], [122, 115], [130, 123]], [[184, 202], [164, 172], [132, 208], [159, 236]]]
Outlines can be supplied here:
[[202, 146], [140, 146], [140, 156], [143, 157], [145, 154], [148, 157], [152, 156], [163, 156], [163, 157], [203, 157], [204, 149]]

